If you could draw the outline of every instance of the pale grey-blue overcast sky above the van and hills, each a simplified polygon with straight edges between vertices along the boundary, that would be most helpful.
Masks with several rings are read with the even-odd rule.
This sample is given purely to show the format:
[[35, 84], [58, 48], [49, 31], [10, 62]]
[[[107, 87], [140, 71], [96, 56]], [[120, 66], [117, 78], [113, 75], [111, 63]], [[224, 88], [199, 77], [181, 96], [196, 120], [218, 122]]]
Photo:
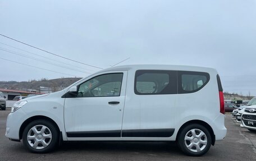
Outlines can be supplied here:
[[[256, 95], [255, 8], [253, 0], [0, 0], [0, 34], [101, 68], [126, 58], [120, 65], [213, 67], [225, 91]], [[0, 81], [85, 77], [99, 70], [3, 36], [0, 65]]]

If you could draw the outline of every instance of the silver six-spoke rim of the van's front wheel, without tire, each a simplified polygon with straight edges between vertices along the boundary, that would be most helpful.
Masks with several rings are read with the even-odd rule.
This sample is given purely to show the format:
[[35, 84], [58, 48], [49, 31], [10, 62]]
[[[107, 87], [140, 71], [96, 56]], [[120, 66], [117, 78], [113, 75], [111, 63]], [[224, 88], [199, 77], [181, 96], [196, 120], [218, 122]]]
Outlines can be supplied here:
[[27, 140], [32, 148], [44, 149], [52, 141], [52, 132], [44, 125], [36, 125], [30, 128], [27, 135]]

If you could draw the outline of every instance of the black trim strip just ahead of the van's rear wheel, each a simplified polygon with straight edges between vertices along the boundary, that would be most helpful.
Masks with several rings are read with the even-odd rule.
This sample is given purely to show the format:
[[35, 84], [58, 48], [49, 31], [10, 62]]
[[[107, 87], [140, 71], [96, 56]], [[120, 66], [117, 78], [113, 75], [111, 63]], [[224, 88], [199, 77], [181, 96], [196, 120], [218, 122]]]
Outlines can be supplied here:
[[174, 128], [122, 130], [122, 137], [171, 137]]

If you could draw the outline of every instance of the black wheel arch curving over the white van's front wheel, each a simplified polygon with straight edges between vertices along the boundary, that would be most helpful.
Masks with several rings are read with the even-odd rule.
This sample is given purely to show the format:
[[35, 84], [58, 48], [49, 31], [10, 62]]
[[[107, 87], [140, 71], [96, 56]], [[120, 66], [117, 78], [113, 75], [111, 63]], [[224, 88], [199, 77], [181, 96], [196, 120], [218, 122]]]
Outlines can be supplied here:
[[38, 116], [30, 117], [30, 118], [26, 119], [26, 120], [22, 123], [22, 125], [21, 125], [21, 127], [20, 127], [20, 131], [19, 131], [19, 139], [20, 139], [20, 140], [22, 139], [22, 133], [23, 133], [25, 127], [26, 127], [30, 122], [35, 121], [35, 120], [37, 120], [37, 119], [44, 119], [44, 120], [47, 120], [47, 121], [53, 123], [53, 125], [57, 127], [57, 131], [58, 131], [59, 133], [61, 132], [61, 131], [60, 131], [60, 127], [58, 127], [57, 123], [56, 123], [55, 121], [53, 121], [53, 119], [51, 119], [51, 118], [49, 118], [49, 117], [46, 117], [46, 116], [40, 116], [40, 115], [38, 115]]

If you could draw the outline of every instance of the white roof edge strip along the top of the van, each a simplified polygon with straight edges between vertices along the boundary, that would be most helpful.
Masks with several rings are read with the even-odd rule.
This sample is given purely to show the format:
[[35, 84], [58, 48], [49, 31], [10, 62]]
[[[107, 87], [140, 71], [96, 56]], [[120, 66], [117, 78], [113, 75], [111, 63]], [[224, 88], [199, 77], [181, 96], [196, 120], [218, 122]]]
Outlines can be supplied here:
[[106, 68], [103, 71], [121, 71], [121, 70], [179, 70], [179, 71], [199, 71], [199, 72], [217, 72], [214, 68], [196, 67], [196, 66], [177, 66], [177, 65], [126, 65]]

